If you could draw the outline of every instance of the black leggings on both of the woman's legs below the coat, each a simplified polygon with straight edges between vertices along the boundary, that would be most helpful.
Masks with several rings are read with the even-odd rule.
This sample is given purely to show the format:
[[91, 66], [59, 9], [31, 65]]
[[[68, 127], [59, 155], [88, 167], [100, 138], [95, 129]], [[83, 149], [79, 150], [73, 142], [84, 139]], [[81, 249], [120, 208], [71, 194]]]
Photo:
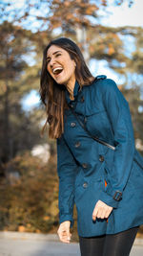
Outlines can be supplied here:
[[79, 237], [81, 256], [129, 256], [139, 226], [99, 237]]

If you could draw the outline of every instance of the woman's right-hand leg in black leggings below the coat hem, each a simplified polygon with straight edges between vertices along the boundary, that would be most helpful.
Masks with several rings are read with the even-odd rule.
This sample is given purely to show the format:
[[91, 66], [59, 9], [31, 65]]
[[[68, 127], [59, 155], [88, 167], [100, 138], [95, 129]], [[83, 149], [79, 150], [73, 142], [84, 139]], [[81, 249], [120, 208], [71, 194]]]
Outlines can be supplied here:
[[139, 226], [126, 231], [107, 235], [103, 256], [129, 256]]

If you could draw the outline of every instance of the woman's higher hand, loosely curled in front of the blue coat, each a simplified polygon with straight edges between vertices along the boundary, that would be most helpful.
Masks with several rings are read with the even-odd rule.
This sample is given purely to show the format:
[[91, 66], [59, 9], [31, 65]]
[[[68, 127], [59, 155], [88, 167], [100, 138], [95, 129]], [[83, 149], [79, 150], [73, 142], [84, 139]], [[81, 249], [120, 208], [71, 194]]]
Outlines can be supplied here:
[[107, 219], [112, 212], [112, 207], [107, 205], [105, 202], [98, 200], [92, 212], [92, 220], [95, 221], [96, 218]]

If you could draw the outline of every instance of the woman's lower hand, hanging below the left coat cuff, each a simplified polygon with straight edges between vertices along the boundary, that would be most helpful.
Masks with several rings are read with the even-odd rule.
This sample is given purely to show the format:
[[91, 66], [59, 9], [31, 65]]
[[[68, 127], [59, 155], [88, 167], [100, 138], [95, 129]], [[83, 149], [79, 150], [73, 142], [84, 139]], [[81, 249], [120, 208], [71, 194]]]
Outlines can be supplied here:
[[59, 225], [57, 234], [61, 242], [70, 243], [72, 234], [70, 233], [71, 221], [64, 221]]

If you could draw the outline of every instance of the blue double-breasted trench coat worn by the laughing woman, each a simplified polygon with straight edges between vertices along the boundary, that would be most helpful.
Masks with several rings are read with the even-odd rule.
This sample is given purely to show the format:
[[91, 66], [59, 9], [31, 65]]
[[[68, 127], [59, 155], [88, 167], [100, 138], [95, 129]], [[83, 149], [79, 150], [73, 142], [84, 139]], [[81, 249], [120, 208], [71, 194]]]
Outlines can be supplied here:
[[[143, 223], [143, 158], [134, 147], [130, 107], [115, 82], [97, 76], [79, 90], [74, 100], [68, 90], [66, 101], [92, 135], [115, 147], [99, 144], [78, 124], [71, 109], [64, 114], [64, 133], [57, 142], [59, 175], [59, 220], [71, 221], [75, 203], [79, 236], [114, 234]], [[107, 186], [105, 186], [105, 180]], [[119, 191], [122, 198], [117, 200]], [[92, 221], [95, 203], [113, 207], [107, 220]]]

